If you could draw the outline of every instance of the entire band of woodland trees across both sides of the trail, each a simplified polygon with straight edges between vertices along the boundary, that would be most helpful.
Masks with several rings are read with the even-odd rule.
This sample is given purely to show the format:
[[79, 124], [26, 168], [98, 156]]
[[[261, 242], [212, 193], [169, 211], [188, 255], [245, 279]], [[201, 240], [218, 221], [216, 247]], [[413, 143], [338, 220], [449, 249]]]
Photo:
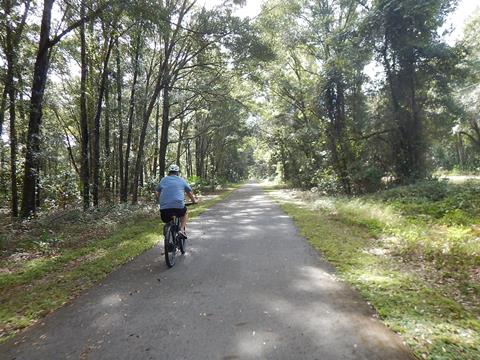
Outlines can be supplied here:
[[478, 11], [449, 46], [453, 0], [242, 4], [2, 1], [11, 215], [136, 203], [171, 163], [345, 194], [478, 169]]

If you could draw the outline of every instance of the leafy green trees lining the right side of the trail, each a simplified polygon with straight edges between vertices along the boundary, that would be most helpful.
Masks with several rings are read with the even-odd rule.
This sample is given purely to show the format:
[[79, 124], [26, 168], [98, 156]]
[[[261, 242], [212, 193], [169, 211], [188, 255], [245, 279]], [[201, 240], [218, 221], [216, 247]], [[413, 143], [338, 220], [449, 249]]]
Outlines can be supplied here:
[[[270, 166], [284, 181], [362, 194], [478, 158], [452, 136], [463, 111], [454, 93], [465, 52], [448, 46], [439, 28], [454, 5], [267, 3], [257, 26], [276, 57], [255, 81]], [[372, 79], [372, 66], [383, 76]]]

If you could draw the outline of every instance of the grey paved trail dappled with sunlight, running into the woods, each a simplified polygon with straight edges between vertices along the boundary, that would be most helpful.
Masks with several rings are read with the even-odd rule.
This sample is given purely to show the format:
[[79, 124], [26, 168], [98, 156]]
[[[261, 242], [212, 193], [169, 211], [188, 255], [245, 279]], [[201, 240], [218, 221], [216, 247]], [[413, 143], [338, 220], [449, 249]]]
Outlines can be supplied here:
[[[0, 346], [1, 359], [413, 359], [255, 185]], [[16, 343], [16, 344], [15, 344]]]

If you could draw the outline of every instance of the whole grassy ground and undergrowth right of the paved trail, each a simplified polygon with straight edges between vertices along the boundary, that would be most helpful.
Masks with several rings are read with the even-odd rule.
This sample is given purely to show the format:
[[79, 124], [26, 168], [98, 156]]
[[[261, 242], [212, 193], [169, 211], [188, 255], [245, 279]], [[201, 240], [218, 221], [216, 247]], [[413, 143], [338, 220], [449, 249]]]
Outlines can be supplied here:
[[480, 358], [480, 182], [270, 194], [419, 358]]

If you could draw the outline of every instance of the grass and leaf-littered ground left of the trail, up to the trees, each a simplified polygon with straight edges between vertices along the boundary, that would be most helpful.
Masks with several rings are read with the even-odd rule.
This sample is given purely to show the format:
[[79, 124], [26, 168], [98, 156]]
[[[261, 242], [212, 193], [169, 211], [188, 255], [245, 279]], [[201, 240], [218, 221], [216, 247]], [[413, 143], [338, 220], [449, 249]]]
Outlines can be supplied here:
[[[200, 196], [195, 217], [236, 187]], [[158, 208], [58, 210], [0, 227], [0, 343], [63, 306], [161, 237]]]

